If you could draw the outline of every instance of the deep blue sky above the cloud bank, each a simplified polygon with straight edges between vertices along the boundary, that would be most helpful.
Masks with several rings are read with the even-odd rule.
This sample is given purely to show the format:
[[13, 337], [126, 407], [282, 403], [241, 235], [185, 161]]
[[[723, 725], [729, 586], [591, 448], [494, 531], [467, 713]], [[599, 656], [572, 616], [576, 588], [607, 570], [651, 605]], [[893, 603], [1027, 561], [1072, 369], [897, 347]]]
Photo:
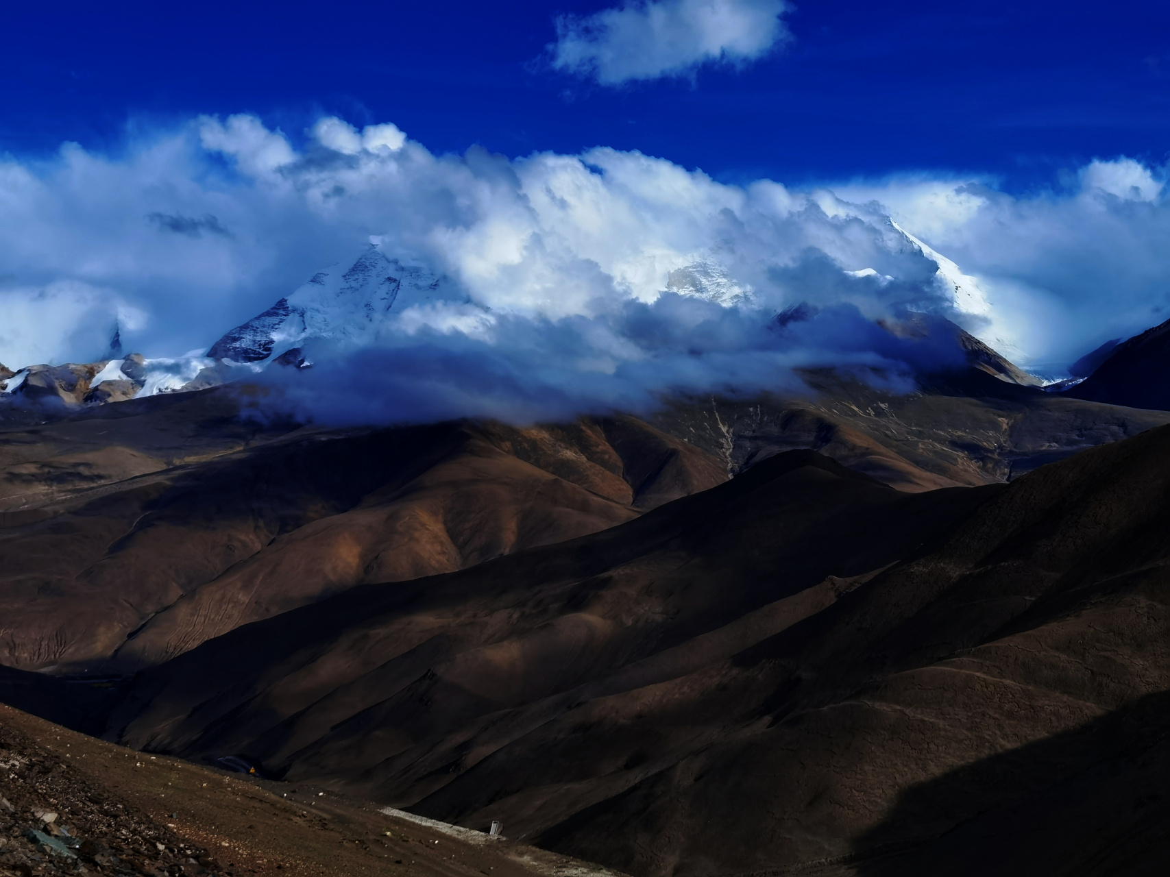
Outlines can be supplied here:
[[393, 122], [433, 151], [639, 149], [727, 181], [931, 170], [1010, 189], [1170, 150], [1170, 4], [796, 0], [786, 49], [605, 89], [534, 65], [615, 2], [8, 2], [0, 151], [116, 149], [128, 124], [253, 111]]

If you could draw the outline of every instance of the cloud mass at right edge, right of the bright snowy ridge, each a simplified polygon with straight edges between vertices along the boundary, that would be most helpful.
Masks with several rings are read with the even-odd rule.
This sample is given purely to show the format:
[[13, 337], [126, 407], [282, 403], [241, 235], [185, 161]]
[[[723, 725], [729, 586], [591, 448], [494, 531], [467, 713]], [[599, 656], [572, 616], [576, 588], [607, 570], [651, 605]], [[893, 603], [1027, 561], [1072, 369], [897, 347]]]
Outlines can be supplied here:
[[873, 202], [977, 275], [989, 343], [1061, 374], [1101, 343], [1170, 317], [1166, 168], [1095, 159], [1069, 186], [1013, 198], [983, 179], [895, 178], [835, 187]]

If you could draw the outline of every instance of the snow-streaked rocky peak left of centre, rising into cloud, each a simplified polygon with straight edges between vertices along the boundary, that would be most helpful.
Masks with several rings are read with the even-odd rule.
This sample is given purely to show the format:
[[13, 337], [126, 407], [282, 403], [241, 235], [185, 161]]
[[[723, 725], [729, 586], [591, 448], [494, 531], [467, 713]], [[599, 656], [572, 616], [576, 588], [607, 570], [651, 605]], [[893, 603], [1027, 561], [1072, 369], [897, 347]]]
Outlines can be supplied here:
[[349, 269], [318, 271], [263, 313], [227, 332], [211, 359], [266, 365], [308, 338], [373, 340], [391, 310], [443, 298], [446, 281], [369, 249]]

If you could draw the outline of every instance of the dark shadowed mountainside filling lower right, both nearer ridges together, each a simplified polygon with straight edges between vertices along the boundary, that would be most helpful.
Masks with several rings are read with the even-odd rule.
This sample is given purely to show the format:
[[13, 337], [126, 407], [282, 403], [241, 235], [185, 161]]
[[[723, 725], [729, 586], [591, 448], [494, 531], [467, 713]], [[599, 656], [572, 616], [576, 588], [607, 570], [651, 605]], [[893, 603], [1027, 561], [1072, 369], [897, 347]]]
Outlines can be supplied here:
[[636, 875], [1161, 872], [1168, 497], [1170, 428], [917, 495], [778, 455], [240, 628], [110, 733]]

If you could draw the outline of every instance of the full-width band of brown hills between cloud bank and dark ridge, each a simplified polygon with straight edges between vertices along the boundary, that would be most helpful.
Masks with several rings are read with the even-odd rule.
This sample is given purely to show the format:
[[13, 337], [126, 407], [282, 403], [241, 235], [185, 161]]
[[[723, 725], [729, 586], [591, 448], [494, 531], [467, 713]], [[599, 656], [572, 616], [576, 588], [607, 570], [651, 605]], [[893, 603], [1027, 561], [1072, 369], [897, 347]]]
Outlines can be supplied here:
[[259, 391], [235, 386], [9, 426], [0, 662], [132, 669], [355, 585], [613, 526], [793, 448], [921, 491], [998, 483], [1170, 420], [979, 372], [980, 398], [810, 380], [819, 396], [675, 400], [656, 428], [325, 430], [241, 416]]

